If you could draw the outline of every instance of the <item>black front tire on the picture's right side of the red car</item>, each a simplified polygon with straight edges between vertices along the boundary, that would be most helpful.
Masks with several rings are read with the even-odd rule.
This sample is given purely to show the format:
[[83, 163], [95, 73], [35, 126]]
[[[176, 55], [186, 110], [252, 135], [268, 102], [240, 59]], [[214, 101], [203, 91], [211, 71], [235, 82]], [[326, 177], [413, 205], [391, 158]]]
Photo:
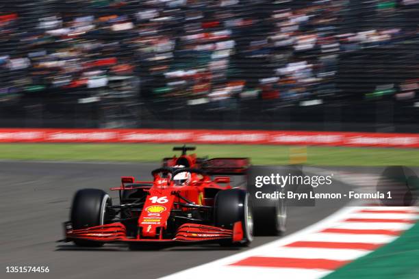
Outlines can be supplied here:
[[236, 222], [242, 222], [242, 241], [233, 243], [231, 239], [223, 239], [220, 245], [249, 245], [253, 241], [253, 209], [246, 191], [242, 189], [219, 191], [214, 201], [215, 226], [231, 230]]

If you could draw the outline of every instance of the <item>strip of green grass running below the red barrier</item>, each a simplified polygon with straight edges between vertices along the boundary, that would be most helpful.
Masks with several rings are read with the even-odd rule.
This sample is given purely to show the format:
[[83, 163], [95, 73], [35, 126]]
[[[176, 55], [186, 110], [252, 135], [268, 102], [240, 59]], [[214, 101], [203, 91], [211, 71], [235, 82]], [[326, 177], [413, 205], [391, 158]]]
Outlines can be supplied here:
[[[0, 159], [60, 161], [160, 161], [176, 144], [0, 144]], [[291, 151], [290, 151], [291, 150]], [[197, 145], [199, 156], [250, 157], [254, 164], [290, 163], [292, 146]], [[304, 157], [304, 156], [303, 156]], [[309, 165], [419, 165], [419, 150], [307, 146]]]

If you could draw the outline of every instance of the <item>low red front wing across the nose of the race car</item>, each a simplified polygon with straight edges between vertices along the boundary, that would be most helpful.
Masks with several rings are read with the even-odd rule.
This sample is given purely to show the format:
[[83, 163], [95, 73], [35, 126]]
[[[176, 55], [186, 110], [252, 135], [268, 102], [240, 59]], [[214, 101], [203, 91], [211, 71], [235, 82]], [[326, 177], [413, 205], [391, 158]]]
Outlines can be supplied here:
[[242, 222], [236, 222], [233, 226], [233, 230], [201, 224], [183, 224], [179, 226], [173, 239], [141, 239], [140, 237], [127, 237], [127, 230], [120, 222], [79, 230], [73, 230], [71, 222], [66, 222], [64, 223], [64, 230], [66, 235], [64, 241], [84, 239], [100, 242], [127, 243], [196, 243], [218, 241], [220, 239], [231, 239], [232, 242], [239, 242], [243, 239]]

